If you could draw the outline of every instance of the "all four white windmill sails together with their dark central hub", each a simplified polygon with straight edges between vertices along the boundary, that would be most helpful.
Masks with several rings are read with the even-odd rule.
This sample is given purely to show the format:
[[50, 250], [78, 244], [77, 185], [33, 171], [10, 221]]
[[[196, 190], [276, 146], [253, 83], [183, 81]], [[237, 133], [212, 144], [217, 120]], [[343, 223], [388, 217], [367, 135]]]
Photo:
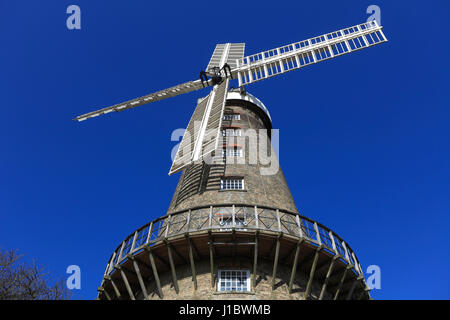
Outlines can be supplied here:
[[83, 121], [212, 87], [194, 110], [170, 168], [171, 175], [205, 159], [217, 149], [230, 79], [237, 78], [239, 88], [245, 91], [244, 86], [257, 81], [385, 41], [382, 26], [373, 20], [246, 57], [244, 43], [217, 44], [206, 70], [200, 72], [200, 79], [89, 112], [74, 120]]

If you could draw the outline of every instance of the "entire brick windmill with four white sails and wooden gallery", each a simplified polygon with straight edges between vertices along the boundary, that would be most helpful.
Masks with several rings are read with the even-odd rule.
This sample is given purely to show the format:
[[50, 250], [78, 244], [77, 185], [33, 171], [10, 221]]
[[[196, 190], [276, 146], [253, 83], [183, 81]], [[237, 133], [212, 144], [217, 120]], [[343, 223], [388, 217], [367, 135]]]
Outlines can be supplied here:
[[369, 299], [350, 245], [299, 214], [270, 114], [244, 85], [385, 41], [371, 21], [247, 57], [244, 44], [218, 44], [199, 80], [77, 117], [213, 87], [170, 169], [182, 173], [167, 213], [117, 246], [98, 299]]

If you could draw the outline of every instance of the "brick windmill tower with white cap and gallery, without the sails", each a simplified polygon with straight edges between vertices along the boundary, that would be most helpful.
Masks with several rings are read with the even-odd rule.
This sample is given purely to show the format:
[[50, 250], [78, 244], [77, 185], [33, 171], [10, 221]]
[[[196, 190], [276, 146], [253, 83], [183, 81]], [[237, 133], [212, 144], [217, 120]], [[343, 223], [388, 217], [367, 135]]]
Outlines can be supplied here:
[[[226, 116], [222, 129], [240, 137], [225, 137], [207, 163], [185, 168], [167, 213], [114, 250], [98, 298], [369, 299], [349, 244], [299, 214], [265, 106], [230, 92], [225, 114], [239, 115]], [[223, 148], [242, 154], [223, 157]], [[223, 188], [227, 179], [233, 190]]]

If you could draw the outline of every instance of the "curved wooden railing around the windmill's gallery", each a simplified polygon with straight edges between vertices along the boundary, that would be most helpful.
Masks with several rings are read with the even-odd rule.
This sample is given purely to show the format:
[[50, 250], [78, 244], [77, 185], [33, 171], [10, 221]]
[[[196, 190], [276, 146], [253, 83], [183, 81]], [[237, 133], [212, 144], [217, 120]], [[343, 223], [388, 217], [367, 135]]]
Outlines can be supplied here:
[[115, 266], [135, 255], [146, 246], [161, 240], [198, 231], [270, 231], [302, 238], [313, 246], [322, 246], [332, 255], [362, 275], [361, 265], [350, 246], [329, 228], [297, 213], [269, 207], [248, 205], [219, 205], [198, 207], [157, 218], [130, 234], [113, 252], [105, 276]]

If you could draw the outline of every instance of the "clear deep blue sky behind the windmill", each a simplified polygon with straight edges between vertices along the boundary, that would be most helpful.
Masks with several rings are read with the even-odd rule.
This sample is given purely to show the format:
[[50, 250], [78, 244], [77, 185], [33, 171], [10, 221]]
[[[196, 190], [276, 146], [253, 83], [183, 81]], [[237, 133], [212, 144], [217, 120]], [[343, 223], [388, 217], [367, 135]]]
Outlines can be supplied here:
[[[195, 92], [82, 123], [75, 116], [196, 79], [216, 43], [252, 54], [364, 22], [388, 43], [248, 88], [280, 129], [302, 214], [331, 227], [375, 299], [450, 298], [446, 1], [0, 1], [0, 246], [56, 277], [81, 267], [93, 299], [128, 234], [165, 214], [174, 129]], [[81, 30], [66, 8], [81, 8]]]

